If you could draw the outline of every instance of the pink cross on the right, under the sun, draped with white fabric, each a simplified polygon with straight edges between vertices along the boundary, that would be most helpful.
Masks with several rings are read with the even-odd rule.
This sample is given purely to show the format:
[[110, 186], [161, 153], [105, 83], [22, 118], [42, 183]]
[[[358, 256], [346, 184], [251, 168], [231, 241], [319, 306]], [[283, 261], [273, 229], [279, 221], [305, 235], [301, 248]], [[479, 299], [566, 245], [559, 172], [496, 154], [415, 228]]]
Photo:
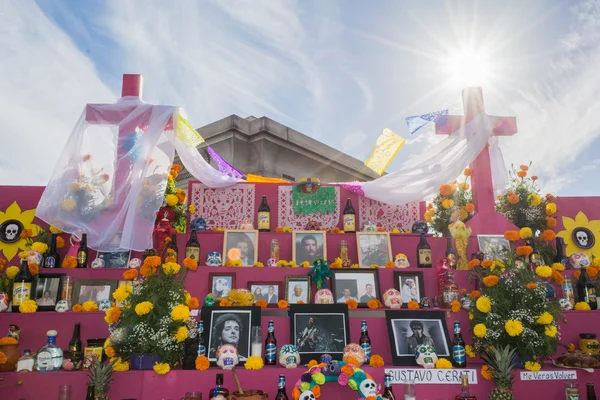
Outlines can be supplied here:
[[[435, 132], [438, 135], [450, 135], [459, 129], [464, 129], [465, 125], [478, 115], [485, 115], [483, 91], [480, 87], [465, 88], [462, 96], [465, 115], [449, 115], [445, 124], [436, 123]], [[512, 136], [517, 133], [517, 120], [515, 117], [492, 118], [497, 118], [492, 131], [493, 136]], [[475, 215], [468, 223], [472, 229], [472, 235], [501, 234], [506, 230], [516, 229], [510, 221], [495, 210], [495, 195], [488, 147], [486, 145], [470, 165], [473, 171], [471, 176], [473, 205], [476, 210]]]

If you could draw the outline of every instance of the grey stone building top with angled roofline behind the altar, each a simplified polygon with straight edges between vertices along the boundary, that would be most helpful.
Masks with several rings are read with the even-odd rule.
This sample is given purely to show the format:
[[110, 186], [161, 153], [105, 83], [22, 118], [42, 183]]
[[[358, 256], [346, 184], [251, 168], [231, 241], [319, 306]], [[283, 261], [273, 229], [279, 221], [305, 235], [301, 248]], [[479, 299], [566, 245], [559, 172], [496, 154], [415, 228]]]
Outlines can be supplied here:
[[[316, 177], [323, 183], [378, 177], [362, 161], [267, 117], [231, 115], [197, 130], [206, 144], [243, 174], [290, 181]], [[198, 151], [208, 161], [206, 144], [198, 146]], [[216, 168], [214, 161], [210, 163]], [[187, 190], [190, 179], [194, 177], [184, 169], [177, 187]]]

